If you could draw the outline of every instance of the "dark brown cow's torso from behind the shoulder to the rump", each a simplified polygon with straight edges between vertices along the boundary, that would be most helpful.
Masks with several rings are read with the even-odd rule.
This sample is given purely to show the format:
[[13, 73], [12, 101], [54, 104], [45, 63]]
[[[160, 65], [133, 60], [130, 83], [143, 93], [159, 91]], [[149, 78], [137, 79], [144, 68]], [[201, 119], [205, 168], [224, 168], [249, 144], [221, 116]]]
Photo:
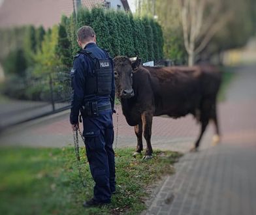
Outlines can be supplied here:
[[219, 72], [206, 66], [150, 67], [155, 115], [181, 117], [195, 113], [206, 96], [217, 94]]

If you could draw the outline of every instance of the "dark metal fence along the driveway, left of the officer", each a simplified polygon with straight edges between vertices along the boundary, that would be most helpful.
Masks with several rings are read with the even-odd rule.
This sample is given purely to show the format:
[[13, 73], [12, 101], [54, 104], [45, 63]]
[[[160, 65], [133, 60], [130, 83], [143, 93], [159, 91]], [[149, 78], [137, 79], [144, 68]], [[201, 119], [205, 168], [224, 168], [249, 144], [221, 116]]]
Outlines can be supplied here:
[[0, 130], [20, 122], [69, 109], [69, 72], [43, 76], [12, 77], [3, 83], [0, 100]]

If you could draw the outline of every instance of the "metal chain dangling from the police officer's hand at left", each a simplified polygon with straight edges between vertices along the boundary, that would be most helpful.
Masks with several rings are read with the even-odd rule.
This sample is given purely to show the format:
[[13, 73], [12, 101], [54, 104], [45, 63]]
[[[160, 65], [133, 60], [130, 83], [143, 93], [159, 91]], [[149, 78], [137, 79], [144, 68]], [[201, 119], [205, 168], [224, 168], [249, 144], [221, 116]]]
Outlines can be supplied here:
[[[77, 128], [75, 131], [73, 131], [73, 137], [74, 137], [74, 152], [76, 154], [76, 165], [77, 165], [77, 168], [78, 168], [78, 174], [79, 174], [79, 177], [80, 177], [80, 180], [81, 180], [81, 184], [84, 188], [86, 188], [86, 180], [83, 179], [82, 177], [82, 168], [81, 168], [81, 160], [80, 160], [80, 153], [79, 153], [79, 139], [78, 139], [78, 131], [79, 131], [79, 134], [82, 138], [82, 140], [84, 141], [84, 136], [82, 136], [82, 132], [80, 131], [79, 128]], [[84, 141], [85, 143], [85, 141]]]

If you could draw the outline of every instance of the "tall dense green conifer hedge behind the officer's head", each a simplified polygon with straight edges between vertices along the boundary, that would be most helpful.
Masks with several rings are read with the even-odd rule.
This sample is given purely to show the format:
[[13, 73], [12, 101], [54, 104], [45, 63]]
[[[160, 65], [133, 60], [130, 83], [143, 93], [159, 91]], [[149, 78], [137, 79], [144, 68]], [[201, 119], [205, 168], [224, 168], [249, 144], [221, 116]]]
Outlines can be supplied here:
[[112, 57], [138, 55], [143, 62], [163, 59], [163, 33], [153, 18], [138, 18], [131, 13], [103, 8], [80, 8], [76, 18], [72, 14], [70, 17], [63, 16], [62, 20], [72, 55], [79, 50], [76, 44], [77, 29], [82, 25], [90, 25], [96, 33], [97, 44], [110, 51]]

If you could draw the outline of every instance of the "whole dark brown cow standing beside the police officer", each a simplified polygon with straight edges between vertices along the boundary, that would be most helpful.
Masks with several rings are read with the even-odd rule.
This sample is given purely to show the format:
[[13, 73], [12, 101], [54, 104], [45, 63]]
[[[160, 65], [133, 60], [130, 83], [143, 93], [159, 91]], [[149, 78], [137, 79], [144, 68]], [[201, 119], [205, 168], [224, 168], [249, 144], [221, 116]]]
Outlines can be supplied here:
[[168, 115], [174, 119], [193, 114], [201, 124], [200, 135], [191, 151], [197, 151], [200, 139], [210, 119], [214, 121], [219, 141], [216, 97], [221, 74], [213, 66], [142, 66], [140, 59], [114, 58], [116, 96], [121, 101], [123, 115], [135, 126], [138, 139], [134, 156], [143, 150], [142, 133], [147, 147], [144, 158], [152, 158], [153, 116]]

